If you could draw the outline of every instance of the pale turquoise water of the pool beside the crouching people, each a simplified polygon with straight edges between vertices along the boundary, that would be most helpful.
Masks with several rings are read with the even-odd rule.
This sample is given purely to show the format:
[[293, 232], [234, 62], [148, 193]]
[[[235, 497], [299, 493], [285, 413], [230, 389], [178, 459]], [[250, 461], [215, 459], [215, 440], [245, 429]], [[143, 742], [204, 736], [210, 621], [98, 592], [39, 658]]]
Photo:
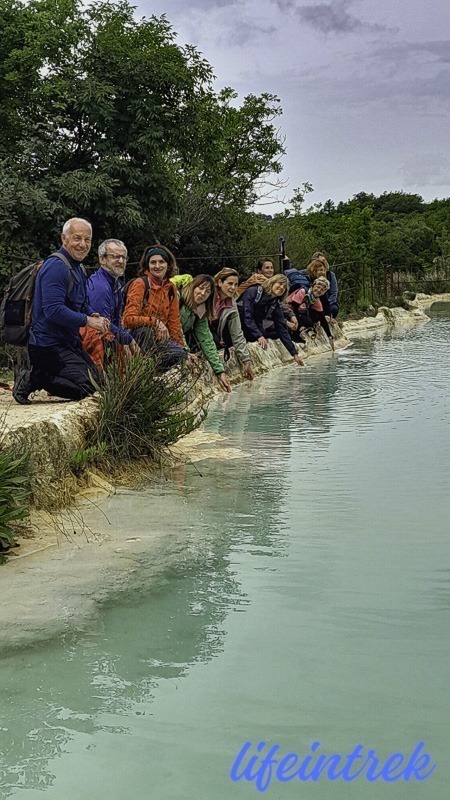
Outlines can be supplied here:
[[140, 552], [83, 633], [1, 660], [1, 798], [255, 798], [229, 777], [245, 741], [437, 763], [270, 798], [450, 796], [449, 343], [447, 307], [277, 370], [216, 406], [216, 457], [104, 504], [136, 536], [163, 514], [170, 558], [148, 580]]

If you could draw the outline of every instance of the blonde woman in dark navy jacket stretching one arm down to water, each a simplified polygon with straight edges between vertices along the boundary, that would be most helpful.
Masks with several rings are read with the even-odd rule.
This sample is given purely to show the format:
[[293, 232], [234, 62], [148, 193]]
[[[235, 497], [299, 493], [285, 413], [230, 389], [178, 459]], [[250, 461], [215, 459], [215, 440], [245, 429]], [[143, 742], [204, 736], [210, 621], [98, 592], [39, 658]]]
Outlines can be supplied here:
[[274, 275], [264, 284], [246, 289], [238, 302], [242, 330], [248, 342], [258, 342], [263, 350], [267, 350], [268, 338], [280, 339], [297, 364], [303, 366], [280, 307], [287, 292], [285, 275]]

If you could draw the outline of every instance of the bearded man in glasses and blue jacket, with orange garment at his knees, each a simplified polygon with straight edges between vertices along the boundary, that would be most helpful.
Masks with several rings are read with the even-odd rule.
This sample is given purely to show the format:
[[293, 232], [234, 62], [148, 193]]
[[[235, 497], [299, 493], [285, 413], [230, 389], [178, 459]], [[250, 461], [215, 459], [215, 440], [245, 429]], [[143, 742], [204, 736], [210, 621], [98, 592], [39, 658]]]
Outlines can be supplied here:
[[83, 333], [83, 346], [101, 369], [106, 350], [118, 342], [124, 346], [125, 356], [136, 355], [139, 347], [130, 331], [121, 323], [123, 274], [128, 260], [127, 248], [120, 239], [106, 239], [99, 245], [100, 267], [88, 279], [89, 305], [109, 320], [109, 333], [105, 337], [98, 331], [87, 328]]

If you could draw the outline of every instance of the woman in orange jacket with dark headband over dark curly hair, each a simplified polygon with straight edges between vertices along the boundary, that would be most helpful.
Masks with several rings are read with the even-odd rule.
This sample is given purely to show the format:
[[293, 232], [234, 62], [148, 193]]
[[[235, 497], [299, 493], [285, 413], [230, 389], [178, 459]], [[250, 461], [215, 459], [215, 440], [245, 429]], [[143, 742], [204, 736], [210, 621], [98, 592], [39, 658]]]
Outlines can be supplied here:
[[126, 293], [124, 328], [144, 350], [157, 350], [163, 369], [186, 356], [180, 322], [178, 294], [170, 278], [175, 275], [175, 256], [162, 245], [147, 247], [139, 263], [138, 277]]

